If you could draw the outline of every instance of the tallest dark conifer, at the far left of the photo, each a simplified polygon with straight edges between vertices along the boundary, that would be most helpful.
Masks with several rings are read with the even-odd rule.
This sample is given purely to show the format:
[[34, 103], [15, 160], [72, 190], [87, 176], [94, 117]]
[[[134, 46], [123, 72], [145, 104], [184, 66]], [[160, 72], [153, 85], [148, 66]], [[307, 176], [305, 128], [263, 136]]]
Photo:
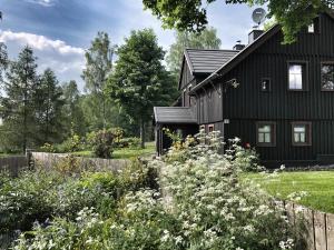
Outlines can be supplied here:
[[32, 49], [24, 47], [17, 61], [9, 64], [7, 80], [3, 82], [4, 96], [0, 103], [6, 131], [11, 142], [23, 151], [33, 143], [35, 134], [35, 93], [38, 86], [37, 58]]

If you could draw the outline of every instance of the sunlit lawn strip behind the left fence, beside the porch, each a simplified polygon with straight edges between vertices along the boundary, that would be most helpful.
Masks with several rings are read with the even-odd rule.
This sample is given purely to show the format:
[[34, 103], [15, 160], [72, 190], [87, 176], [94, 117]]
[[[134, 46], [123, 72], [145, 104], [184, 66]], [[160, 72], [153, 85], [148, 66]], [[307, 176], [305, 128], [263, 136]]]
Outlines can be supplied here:
[[[131, 159], [136, 157], [148, 156], [155, 153], [155, 142], [146, 142], [145, 149], [116, 149], [112, 152], [112, 159]], [[94, 157], [91, 151], [80, 151], [75, 153], [78, 157]]]

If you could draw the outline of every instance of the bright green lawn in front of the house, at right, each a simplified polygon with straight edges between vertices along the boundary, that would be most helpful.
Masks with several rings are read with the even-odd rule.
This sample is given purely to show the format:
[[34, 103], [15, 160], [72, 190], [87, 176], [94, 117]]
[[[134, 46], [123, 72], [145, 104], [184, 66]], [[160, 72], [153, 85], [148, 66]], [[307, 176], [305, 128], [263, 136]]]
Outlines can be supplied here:
[[307, 196], [298, 201], [299, 204], [334, 213], [334, 171], [281, 172], [277, 176], [249, 173], [244, 179], [254, 180], [281, 199], [306, 191]]

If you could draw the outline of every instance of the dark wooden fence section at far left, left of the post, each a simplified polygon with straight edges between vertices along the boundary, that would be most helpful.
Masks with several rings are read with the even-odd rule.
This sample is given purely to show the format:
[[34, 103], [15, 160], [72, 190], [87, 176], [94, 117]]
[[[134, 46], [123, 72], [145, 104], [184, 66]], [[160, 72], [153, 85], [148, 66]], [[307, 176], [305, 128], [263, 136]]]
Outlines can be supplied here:
[[28, 168], [26, 156], [0, 158], [0, 171], [8, 171], [12, 176], [18, 176], [21, 169]]

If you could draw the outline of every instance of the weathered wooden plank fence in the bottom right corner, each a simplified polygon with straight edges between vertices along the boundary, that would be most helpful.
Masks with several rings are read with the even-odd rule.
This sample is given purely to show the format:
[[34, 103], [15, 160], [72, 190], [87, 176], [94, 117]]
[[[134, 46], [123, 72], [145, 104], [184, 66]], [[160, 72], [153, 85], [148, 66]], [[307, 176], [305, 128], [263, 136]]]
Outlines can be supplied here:
[[334, 250], [334, 214], [314, 211], [299, 204], [287, 203], [286, 210], [295, 222], [302, 213], [306, 226], [304, 239], [305, 250]]

